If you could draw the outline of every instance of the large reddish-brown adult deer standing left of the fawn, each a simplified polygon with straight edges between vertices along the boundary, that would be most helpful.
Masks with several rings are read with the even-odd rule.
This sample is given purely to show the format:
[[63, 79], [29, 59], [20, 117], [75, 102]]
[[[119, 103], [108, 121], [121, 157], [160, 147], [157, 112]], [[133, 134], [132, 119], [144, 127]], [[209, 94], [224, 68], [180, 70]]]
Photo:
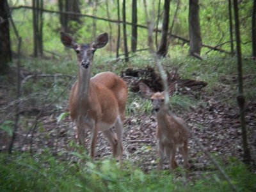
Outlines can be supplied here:
[[[108, 43], [108, 33], [102, 33], [90, 44], [77, 44], [67, 33], [60, 32], [61, 42], [77, 54], [77, 81], [69, 97], [72, 121], [77, 126], [77, 138], [85, 147], [84, 138], [91, 131], [90, 156], [94, 159], [97, 135], [102, 131], [112, 145], [113, 156], [122, 164], [122, 132], [125, 118], [127, 86], [113, 72], [102, 72], [91, 78], [94, 52]], [[115, 126], [116, 133], [112, 131]]]

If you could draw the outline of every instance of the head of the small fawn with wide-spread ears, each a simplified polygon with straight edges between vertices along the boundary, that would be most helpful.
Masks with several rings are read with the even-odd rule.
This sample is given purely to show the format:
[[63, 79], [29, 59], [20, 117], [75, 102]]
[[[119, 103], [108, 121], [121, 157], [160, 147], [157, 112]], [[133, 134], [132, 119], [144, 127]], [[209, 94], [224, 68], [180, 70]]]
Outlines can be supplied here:
[[[168, 93], [171, 95], [175, 90], [176, 83], [170, 84], [168, 86]], [[151, 99], [153, 110], [157, 113], [164, 106], [164, 92], [152, 92], [152, 90], [145, 83], [139, 83], [140, 91], [145, 96]]]

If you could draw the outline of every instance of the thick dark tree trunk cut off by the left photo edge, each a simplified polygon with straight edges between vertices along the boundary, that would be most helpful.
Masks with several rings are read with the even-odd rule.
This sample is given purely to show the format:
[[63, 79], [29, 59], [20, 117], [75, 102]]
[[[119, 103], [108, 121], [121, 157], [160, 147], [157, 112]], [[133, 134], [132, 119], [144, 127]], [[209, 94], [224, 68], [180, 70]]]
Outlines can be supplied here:
[[9, 29], [9, 8], [7, 0], [0, 1], [0, 74], [4, 74], [12, 61], [10, 29]]

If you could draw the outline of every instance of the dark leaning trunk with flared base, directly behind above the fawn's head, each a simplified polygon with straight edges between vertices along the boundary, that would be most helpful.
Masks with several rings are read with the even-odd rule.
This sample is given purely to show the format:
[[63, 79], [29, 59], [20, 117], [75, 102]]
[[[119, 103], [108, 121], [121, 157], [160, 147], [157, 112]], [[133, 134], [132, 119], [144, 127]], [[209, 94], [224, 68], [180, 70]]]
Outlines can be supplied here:
[[170, 15], [170, 0], [164, 1], [164, 18], [161, 33], [161, 40], [157, 49], [158, 56], [166, 56], [168, 52], [168, 26], [169, 26], [169, 15]]

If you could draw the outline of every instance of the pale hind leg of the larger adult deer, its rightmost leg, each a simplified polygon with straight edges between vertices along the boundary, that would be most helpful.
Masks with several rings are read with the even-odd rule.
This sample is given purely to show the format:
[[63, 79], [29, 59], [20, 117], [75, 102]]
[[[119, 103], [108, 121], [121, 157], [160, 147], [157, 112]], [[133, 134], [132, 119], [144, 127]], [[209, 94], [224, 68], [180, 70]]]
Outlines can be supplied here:
[[123, 145], [122, 145], [122, 135], [123, 135], [123, 122], [120, 116], [118, 116], [116, 123], [116, 136], [117, 136], [117, 154], [119, 156], [120, 166], [122, 166], [122, 155], [123, 155]]

